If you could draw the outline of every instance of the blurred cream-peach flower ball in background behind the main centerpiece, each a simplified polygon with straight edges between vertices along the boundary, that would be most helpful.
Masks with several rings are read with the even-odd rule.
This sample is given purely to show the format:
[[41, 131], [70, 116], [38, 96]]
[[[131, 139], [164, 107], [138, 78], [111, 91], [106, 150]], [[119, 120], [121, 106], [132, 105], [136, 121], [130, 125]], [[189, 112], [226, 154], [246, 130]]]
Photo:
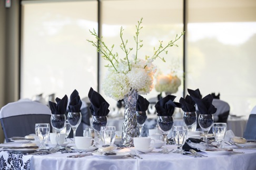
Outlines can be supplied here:
[[178, 87], [181, 85], [181, 79], [174, 74], [159, 75], [156, 79], [155, 90], [156, 92], [176, 93]]

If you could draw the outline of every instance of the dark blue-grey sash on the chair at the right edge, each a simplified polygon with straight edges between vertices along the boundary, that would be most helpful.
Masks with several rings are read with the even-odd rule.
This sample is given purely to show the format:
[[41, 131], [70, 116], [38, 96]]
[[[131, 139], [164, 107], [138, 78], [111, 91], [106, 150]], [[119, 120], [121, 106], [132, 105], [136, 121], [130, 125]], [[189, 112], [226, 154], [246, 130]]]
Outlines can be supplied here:
[[247, 125], [245, 126], [243, 137], [245, 139], [256, 140], [256, 114], [250, 114]]

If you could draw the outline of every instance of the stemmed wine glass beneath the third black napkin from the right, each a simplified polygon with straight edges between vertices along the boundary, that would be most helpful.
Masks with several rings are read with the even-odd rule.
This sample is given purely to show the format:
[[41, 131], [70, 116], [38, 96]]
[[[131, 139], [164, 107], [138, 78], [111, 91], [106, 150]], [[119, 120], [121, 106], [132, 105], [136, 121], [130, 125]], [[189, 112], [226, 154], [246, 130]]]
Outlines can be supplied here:
[[160, 132], [163, 134], [164, 137], [164, 145], [161, 153], [168, 153], [168, 149], [166, 148], [166, 142], [167, 142], [167, 135], [171, 131], [171, 128], [173, 126], [174, 119], [173, 116], [158, 116], [157, 118], [157, 125], [160, 129]]

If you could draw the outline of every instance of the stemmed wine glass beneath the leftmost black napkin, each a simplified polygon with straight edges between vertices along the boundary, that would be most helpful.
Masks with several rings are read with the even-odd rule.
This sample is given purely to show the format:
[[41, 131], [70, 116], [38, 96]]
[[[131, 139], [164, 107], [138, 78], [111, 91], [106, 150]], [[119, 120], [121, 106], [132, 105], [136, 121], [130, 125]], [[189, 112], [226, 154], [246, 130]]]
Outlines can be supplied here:
[[55, 147], [61, 148], [61, 146], [60, 146], [60, 133], [63, 130], [63, 128], [65, 128], [65, 124], [66, 124], [65, 114], [52, 114], [51, 124], [53, 126], [54, 131], [56, 132], [57, 145]]

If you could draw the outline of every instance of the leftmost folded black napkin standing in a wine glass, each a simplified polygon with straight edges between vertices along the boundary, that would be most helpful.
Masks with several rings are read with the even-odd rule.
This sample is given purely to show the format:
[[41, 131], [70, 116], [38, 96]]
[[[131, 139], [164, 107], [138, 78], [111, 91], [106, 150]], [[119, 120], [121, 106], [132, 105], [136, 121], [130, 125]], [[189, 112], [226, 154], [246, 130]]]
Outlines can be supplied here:
[[67, 108], [67, 95], [65, 95], [62, 99], [56, 97], [55, 101], [57, 103], [49, 101], [49, 106], [51, 109], [52, 114], [65, 114]]

